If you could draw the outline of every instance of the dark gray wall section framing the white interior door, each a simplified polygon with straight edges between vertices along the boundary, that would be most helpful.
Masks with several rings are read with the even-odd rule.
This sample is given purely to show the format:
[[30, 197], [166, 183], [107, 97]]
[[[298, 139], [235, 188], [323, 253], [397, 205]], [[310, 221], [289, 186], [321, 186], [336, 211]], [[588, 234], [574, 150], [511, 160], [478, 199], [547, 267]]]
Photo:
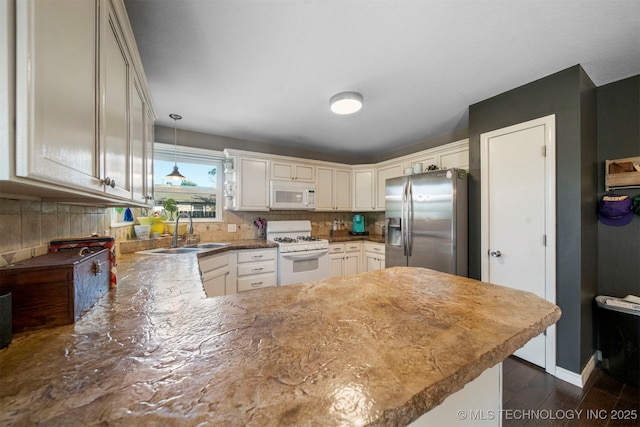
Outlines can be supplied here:
[[469, 107], [469, 275], [480, 278], [480, 134], [556, 115], [556, 363], [579, 373], [593, 354], [597, 277], [596, 89], [574, 66]]

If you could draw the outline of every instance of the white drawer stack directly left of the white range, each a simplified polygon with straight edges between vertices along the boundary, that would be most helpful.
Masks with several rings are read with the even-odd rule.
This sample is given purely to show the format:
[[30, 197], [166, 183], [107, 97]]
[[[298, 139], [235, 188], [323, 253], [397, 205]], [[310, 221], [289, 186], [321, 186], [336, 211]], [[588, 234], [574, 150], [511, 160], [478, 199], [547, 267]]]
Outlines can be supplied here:
[[277, 284], [277, 249], [238, 251], [238, 292]]

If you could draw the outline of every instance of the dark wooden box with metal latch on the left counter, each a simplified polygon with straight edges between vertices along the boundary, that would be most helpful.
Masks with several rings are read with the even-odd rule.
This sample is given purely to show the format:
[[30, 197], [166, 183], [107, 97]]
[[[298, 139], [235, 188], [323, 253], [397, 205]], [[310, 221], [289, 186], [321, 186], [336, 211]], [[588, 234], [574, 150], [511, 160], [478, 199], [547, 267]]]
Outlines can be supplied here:
[[11, 292], [12, 331], [74, 323], [109, 289], [109, 250], [50, 252], [0, 268]]

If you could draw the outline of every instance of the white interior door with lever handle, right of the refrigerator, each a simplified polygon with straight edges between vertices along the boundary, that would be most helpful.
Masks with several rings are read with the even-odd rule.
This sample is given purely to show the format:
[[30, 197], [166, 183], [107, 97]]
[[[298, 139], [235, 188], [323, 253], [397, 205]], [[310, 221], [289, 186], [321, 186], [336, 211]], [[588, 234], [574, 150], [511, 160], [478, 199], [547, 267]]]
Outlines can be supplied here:
[[[555, 302], [554, 123], [555, 117], [548, 116], [480, 137], [482, 280], [551, 302]], [[555, 329], [514, 354], [554, 373]]]

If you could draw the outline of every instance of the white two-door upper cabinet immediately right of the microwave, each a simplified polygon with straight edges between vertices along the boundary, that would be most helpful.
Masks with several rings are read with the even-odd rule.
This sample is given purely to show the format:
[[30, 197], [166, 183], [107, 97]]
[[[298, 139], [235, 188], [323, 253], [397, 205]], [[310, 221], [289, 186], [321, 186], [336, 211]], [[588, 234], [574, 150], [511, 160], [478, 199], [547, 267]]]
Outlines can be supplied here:
[[316, 210], [351, 210], [351, 171], [318, 166], [316, 179]]

